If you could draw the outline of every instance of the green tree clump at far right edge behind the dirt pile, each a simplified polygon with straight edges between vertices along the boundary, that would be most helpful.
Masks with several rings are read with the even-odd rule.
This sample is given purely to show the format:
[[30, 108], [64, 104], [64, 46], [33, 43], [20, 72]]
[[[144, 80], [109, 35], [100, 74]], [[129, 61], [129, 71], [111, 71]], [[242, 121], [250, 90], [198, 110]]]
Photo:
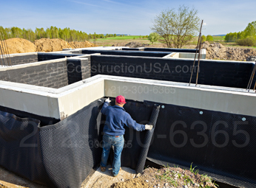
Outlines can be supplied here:
[[241, 32], [229, 32], [225, 36], [226, 42], [236, 42], [240, 46], [256, 46], [256, 21], [249, 23]]

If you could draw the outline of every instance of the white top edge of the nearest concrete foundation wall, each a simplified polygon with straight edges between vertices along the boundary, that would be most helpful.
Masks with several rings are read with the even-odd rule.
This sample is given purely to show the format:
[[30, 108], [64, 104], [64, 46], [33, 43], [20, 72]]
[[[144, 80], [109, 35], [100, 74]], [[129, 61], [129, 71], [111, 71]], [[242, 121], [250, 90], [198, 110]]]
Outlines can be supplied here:
[[64, 86], [62, 88], [47, 88], [43, 86], [33, 86], [24, 83], [13, 83], [8, 81], [0, 80], [0, 88], [10, 89], [13, 91], [22, 91], [28, 93], [36, 93], [46, 95], [46, 94], [54, 94], [53, 96], [58, 97], [58, 95], [63, 95], [65, 92], [69, 93], [74, 91], [79, 87], [83, 87], [86, 84], [96, 83], [100, 80], [119, 80], [122, 82], [130, 82], [130, 83], [150, 83], [153, 85], [159, 86], [175, 86], [177, 88], [189, 88], [195, 90], [202, 90], [202, 91], [212, 91], [212, 92], [221, 92], [221, 93], [229, 93], [229, 94], [240, 94], [240, 95], [247, 95], [247, 96], [254, 96], [256, 94], [254, 91], [250, 90], [250, 92], [246, 91], [243, 88], [229, 88], [229, 87], [221, 87], [221, 86], [207, 86], [207, 85], [198, 85], [195, 86], [194, 83], [189, 86], [189, 83], [178, 83], [178, 82], [171, 82], [171, 81], [164, 81], [164, 80], [149, 80], [149, 79], [142, 79], [142, 78], [133, 78], [133, 77], [117, 77], [117, 76], [110, 76], [104, 74], [98, 74], [93, 77], [89, 77], [85, 80], [78, 81], [76, 83], [70, 84], [68, 86]]

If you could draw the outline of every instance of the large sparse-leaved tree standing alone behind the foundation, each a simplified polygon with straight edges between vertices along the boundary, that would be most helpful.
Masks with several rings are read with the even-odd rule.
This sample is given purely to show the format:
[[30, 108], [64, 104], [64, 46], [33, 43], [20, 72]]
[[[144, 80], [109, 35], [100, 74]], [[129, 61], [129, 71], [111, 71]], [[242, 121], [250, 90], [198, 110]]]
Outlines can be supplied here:
[[163, 10], [153, 21], [152, 31], [158, 33], [170, 48], [173, 45], [175, 48], [181, 48], [189, 42], [193, 35], [199, 31], [200, 18], [198, 10], [189, 7], [180, 6], [178, 11]]

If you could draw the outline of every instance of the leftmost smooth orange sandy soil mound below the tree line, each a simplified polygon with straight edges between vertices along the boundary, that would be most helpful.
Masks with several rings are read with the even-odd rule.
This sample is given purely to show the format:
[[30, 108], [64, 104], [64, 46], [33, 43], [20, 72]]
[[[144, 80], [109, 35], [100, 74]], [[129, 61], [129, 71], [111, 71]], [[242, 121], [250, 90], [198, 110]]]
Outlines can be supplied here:
[[23, 38], [9, 38], [5, 42], [10, 54], [36, 52], [36, 46]]

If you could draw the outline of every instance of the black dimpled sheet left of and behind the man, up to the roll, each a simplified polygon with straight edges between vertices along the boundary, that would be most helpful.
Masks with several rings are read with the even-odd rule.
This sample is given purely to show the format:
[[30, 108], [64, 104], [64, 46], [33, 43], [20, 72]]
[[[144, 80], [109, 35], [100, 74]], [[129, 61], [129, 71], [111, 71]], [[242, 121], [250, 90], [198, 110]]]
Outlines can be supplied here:
[[[61, 122], [44, 127], [37, 119], [21, 119], [0, 111], [0, 165], [47, 187], [81, 187], [92, 167], [101, 161], [102, 101], [92, 102]], [[137, 102], [127, 102], [126, 109], [133, 119], [144, 124], [156, 122], [159, 111], [154, 105]], [[141, 112], [143, 115], [138, 116]], [[144, 146], [138, 145], [136, 134], [129, 133], [129, 128], [127, 132], [126, 136], [132, 137], [127, 139], [121, 161], [135, 169], [138, 159], [146, 160], [148, 148], [141, 153]], [[141, 142], [148, 139], [144, 134], [145, 131], [137, 136]], [[138, 156], [135, 158], [133, 153]], [[140, 164], [139, 169], [143, 169], [143, 162]]]

